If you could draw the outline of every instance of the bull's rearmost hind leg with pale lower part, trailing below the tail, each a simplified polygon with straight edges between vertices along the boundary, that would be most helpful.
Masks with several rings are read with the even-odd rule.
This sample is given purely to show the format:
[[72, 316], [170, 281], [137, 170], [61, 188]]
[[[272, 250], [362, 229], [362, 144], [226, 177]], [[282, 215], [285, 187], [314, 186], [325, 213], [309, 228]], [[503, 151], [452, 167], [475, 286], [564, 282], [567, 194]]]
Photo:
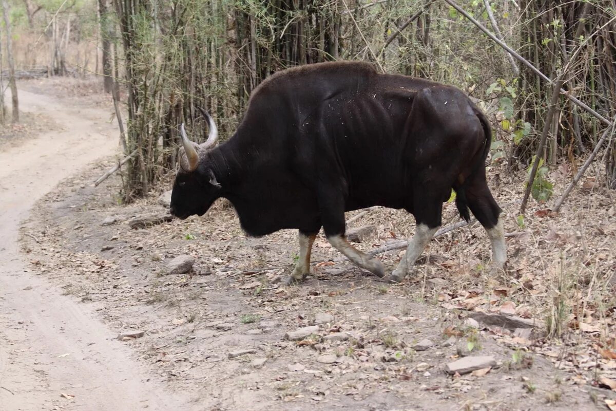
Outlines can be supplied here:
[[468, 208], [479, 220], [488, 233], [492, 243], [492, 263], [497, 269], [504, 269], [507, 261], [507, 248], [505, 245], [505, 230], [503, 229], [503, 219], [501, 208], [496, 204], [492, 193], [485, 181], [485, 169], [472, 177], [466, 187], [466, 198]]

